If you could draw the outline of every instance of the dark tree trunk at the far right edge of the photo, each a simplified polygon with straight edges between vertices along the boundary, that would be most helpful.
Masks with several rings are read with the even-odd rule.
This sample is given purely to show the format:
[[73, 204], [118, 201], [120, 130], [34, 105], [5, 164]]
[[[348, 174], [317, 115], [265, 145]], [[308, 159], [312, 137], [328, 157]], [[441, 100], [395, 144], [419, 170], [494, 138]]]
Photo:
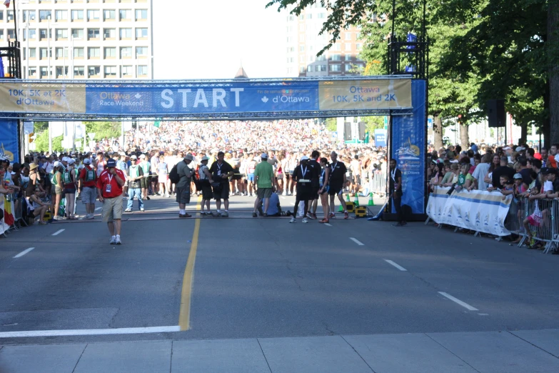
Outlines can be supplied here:
[[[559, 142], [559, 1], [548, 2], [548, 61], [549, 61], [549, 136], [545, 145]], [[544, 132], [546, 135], [548, 132]], [[549, 148], [548, 148], [549, 149]]]

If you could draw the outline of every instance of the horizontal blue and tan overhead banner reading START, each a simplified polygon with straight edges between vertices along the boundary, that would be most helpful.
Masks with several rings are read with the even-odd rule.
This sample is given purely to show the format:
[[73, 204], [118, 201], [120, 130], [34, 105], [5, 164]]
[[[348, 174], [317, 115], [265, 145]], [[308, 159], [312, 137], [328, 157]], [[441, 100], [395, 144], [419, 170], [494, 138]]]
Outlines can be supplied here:
[[50, 114], [226, 114], [410, 109], [411, 79], [0, 82], [0, 111]]

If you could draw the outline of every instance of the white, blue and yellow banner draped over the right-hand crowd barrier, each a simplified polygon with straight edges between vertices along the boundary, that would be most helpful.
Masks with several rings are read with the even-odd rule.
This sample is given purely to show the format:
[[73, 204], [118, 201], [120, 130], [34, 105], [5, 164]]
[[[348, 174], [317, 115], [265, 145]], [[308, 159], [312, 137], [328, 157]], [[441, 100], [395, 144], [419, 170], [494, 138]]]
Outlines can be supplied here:
[[505, 218], [512, 196], [481, 190], [454, 191], [449, 196], [449, 190], [436, 188], [429, 196], [427, 214], [435, 222], [495, 236], [510, 234], [505, 229]]

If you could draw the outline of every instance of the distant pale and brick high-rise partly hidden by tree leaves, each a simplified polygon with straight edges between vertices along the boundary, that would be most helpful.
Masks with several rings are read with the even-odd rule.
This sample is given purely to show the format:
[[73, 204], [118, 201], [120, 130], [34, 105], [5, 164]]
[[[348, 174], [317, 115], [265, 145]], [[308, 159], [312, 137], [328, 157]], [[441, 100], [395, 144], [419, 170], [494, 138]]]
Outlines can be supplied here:
[[327, 16], [321, 4], [308, 6], [299, 16], [286, 11], [287, 76], [347, 76], [363, 70], [365, 62], [358, 59], [363, 41], [356, 26], [343, 29], [336, 44], [316, 56], [331, 39], [318, 35]]

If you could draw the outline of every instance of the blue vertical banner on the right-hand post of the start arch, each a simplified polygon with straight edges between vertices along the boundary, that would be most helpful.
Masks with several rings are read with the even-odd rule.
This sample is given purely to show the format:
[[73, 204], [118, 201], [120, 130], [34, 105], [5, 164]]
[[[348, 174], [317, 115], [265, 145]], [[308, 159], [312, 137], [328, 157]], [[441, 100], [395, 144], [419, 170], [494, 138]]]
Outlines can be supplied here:
[[[425, 213], [425, 89], [425, 81], [413, 80], [413, 115], [392, 120], [391, 155], [402, 171], [402, 204], [411, 207], [413, 214]], [[392, 211], [396, 212], [394, 207]]]

